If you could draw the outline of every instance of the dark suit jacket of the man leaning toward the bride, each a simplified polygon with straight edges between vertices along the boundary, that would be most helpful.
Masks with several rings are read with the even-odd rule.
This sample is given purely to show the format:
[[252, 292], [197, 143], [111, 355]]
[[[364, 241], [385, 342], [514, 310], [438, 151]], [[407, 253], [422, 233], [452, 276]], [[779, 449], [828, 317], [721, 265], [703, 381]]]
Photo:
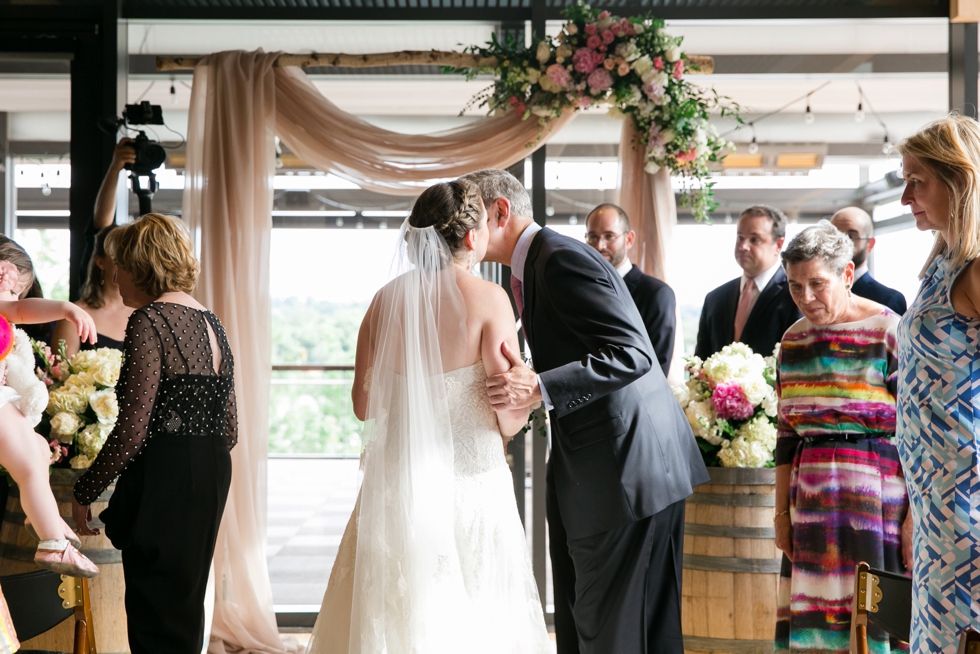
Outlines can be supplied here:
[[642, 520], [708, 481], [619, 273], [545, 228], [523, 287], [525, 335], [554, 405], [551, 467], [568, 537]]

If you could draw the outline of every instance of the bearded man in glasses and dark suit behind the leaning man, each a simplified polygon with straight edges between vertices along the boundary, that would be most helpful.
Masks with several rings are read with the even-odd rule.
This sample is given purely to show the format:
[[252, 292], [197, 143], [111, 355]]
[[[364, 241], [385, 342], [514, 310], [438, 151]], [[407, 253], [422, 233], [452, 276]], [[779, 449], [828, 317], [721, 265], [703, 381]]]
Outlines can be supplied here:
[[600, 204], [585, 219], [585, 228], [588, 230], [585, 242], [598, 250], [626, 282], [666, 377], [674, 356], [677, 326], [674, 291], [656, 277], [640, 272], [630, 261], [628, 252], [636, 240], [636, 232], [630, 229], [625, 211], [615, 204]]

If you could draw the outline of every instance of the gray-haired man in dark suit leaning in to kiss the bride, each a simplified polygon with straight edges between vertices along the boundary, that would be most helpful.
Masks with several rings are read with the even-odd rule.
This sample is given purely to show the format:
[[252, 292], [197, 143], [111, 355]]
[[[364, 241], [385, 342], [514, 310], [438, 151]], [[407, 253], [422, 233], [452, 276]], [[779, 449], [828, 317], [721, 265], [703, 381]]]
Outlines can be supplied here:
[[504, 346], [494, 409], [543, 402], [575, 566], [583, 654], [682, 654], [684, 500], [708, 474], [622, 278], [584, 243], [538, 227], [504, 171], [467, 175], [490, 230], [485, 260], [511, 267], [536, 372]]

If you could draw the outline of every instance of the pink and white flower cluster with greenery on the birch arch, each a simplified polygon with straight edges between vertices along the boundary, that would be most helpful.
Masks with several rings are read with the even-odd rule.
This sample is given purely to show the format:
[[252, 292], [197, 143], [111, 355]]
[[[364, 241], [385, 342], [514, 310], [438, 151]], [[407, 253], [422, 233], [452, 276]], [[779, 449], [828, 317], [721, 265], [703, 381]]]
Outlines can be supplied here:
[[469, 78], [492, 72], [493, 88], [474, 98], [491, 113], [515, 111], [537, 116], [542, 126], [568, 110], [607, 105], [616, 118], [636, 121], [637, 146], [646, 149], [646, 171], [666, 168], [684, 180], [682, 205], [696, 219], [717, 203], [709, 164], [734, 149], [709, 123], [709, 112], [738, 117], [738, 106], [714, 91], [692, 84], [686, 73], [697, 64], [681, 50], [682, 37], [664, 30], [652, 16], [621, 18], [579, 2], [563, 12], [567, 22], [554, 39], [531, 48], [494, 36], [485, 47], [467, 51], [496, 62], [492, 69], [462, 68]]

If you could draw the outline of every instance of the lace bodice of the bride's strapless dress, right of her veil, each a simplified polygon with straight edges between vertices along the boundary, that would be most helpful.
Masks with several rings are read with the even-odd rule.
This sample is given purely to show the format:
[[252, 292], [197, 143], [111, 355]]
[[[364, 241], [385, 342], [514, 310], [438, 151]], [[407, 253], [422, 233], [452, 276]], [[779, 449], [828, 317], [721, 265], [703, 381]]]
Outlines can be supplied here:
[[446, 373], [449, 418], [453, 427], [456, 476], [479, 475], [507, 466], [497, 414], [487, 399], [483, 362]]

